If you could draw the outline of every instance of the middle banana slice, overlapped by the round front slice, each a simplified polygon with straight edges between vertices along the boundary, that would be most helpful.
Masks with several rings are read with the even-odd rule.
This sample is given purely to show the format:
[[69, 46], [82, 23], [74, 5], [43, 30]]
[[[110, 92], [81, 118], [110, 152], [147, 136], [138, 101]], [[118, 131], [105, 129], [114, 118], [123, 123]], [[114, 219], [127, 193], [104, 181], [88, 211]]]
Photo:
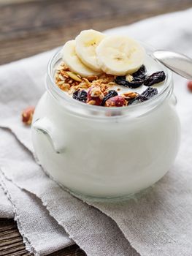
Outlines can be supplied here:
[[75, 38], [76, 41], [76, 53], [81, 59], [82, 63], [86, 66], [91, 67], [95, 71], [100, 71], [101, 68], [96, 58], [96, 47], [99, 45], [105, 35], [99, 31], [89, 29], [83, 30]]

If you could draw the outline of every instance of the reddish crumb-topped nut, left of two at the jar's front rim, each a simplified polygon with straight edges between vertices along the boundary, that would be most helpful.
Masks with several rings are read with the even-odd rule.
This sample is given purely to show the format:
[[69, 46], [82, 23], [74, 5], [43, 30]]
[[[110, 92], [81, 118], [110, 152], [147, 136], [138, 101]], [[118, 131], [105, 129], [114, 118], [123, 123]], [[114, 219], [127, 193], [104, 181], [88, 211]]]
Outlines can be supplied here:
[[[101, 88], [99, 86], [91, 86], [88, 90], [88, 99], [87, 103], [91, 105], [101, 105], [102, 99], [104, 98], [104, 94], [101, 91]], [[93, 102], [95, 104], [93, 104]], [[91, 103], [90, 103], [91, 102]]]

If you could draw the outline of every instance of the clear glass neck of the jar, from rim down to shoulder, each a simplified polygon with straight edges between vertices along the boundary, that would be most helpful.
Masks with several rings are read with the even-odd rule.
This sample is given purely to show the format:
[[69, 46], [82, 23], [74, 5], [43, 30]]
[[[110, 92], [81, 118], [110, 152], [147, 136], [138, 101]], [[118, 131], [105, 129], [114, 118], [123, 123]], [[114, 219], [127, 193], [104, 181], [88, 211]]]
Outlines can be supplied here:
[[[145, 45], [147, 54], [150, 55], [153, 49]], [[164, 89], [151, 99], [145, 102], [139, 102], [136, 105], [128, 105], [121, 108], [104, 108], [101, 106], [86, 105], [83, 102], [69, 97], [64, 91], [56, 86], [54, 81], [55, 67], [61, 62], [61, 50], [59, 50], [53, 58], [50, 59], [47, 67], [46, 75], [46, 88], [50, 96], [61, 106], [64, 110], [68, 111], [74, 116], [81, 116], [84, 118], [122, 118], [123, 116], [138, 117], [149, 113], [150, 111], [158, 108], [162, 103], [172, 95], [173, 83], [172, 72], [166, 67], [162, 66], [162, 69], [166, 73], [166, 80], [164, 83]]]

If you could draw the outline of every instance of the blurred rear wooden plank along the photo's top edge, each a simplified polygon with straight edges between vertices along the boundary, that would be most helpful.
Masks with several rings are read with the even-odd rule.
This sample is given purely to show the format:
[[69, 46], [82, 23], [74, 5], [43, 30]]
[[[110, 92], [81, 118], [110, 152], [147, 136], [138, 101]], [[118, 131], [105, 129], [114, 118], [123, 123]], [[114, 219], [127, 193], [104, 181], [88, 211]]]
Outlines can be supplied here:
[[[145, 4], [144, 4], [145, 3]], [[43, 31], [44, 29], [69, 27], [81, 20], [95, 20], [115, 15], [153, 15], [155, 12], [180, 10], [191, 6], [191, 0], [39, 0], [15, 5], [4, 5], [0, 10], [0, 38], [18, 37], [22, 32]], [[4, 26], [6, 24], [6, 26]]]

